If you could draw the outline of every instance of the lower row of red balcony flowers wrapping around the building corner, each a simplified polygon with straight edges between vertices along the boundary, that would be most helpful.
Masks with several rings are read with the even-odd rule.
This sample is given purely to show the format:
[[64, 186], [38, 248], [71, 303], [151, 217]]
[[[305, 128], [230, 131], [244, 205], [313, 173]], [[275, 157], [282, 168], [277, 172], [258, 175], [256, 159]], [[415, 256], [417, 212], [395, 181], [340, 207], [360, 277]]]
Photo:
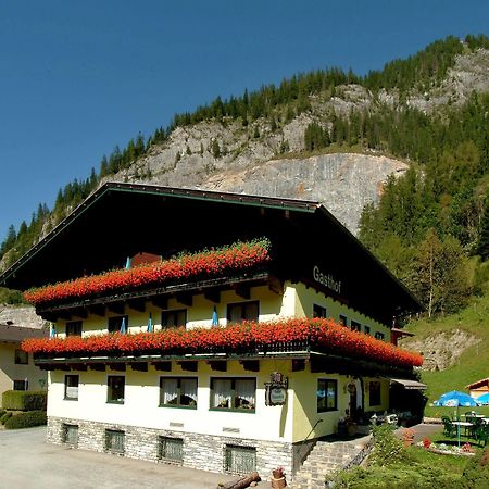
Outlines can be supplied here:
[[351, 331], [331, 319], [289, 318], [267, 323], [246, 322], [222, 328], [184, 327], [122, 335], [27, 339], [22, 348], [48, 356], [66, 353], [127, 355], [158, 351], [161, 354], [234, 351], [287, 351], [316, 349], [347, 358], [374, 361], [394, 367], [421, 366], [422, 355], [401, 350], [359, 331]]

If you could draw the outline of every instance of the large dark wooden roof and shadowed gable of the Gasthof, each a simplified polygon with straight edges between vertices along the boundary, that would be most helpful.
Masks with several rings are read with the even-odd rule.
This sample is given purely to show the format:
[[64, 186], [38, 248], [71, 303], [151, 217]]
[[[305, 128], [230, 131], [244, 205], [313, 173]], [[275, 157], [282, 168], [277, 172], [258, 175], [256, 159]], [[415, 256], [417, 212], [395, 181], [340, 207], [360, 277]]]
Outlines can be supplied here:
[[0, 285], [24, 290], [123, 267], [141, 251], [165, 258], [262, 236], [280, 278], [316, 287], [317, 265], [341, 279], [339, 300], [387, 324], [421, 310], [318, 202], [122, 183], [101, 186], [0, 275]]

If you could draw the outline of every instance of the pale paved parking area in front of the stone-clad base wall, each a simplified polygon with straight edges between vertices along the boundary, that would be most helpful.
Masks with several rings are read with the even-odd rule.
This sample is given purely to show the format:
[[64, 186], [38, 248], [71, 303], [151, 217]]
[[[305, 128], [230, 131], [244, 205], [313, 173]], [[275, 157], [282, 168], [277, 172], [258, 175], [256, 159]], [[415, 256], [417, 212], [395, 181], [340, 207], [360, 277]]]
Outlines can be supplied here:
[[0, 430], [0, 488], [206, 489], [234, 477], [49, 444], [46, 427]]

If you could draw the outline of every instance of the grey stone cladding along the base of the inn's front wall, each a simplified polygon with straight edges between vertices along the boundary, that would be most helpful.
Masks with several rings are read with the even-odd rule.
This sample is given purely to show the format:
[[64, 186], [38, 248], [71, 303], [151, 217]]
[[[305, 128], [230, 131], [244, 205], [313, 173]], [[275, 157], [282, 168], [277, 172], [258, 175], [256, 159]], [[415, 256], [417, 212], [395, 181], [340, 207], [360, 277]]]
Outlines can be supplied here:
[[255, 448], [256, 472], [264, 479], [267, 479], [272, 474], [272, 469], [278, 466], [284, 467], [286, 473], [291, 475], [294, 465], [294, 448], [292, 443], [142, 428], [65, 417], [50, 416], [48, 418], [48, 442], [63, 444], [65, 425], [78, 426], [77, 448], [97, 452], [106, 451], [105, 429], [124, 431], [124, 455], [148, 462], [172, 463], [158, 457], [159, 437], [163, 436], [184, 440], [184, 460], [181, 465], [186, 467], [224, 473], [225, 448], [227, 444]]

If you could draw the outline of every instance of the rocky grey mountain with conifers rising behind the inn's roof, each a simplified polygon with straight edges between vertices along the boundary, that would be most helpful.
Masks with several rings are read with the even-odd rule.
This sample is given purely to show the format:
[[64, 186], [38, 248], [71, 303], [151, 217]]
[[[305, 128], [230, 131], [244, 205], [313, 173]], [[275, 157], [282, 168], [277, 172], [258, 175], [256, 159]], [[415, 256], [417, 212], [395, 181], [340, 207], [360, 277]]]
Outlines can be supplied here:
[[9, 233], [1, 266], [105, 179], [318, 200], [359, 234], [362, 210], [377, 206], [390, 175], [453, 150], [447, 141], [461, 130], [452, 121], [471, 117], [463, 111], [489, 91], [488, 75], [487, 37], [449, 37], [363, 78], [331, 68], [217, 97], [60, 189], [52, 211], [40, 205]]

